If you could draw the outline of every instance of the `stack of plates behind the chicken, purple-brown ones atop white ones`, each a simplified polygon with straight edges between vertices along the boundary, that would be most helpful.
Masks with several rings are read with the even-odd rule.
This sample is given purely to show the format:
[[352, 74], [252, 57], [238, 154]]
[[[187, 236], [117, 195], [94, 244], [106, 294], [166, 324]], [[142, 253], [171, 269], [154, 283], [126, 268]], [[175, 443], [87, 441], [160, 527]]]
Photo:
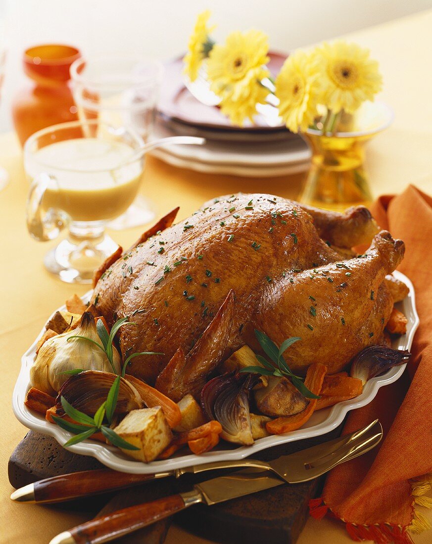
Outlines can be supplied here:
[[[285, 55], [270, 53], [277, 73]], [[202, 104], [184, 85], [182, 58], [166, 66], [154, 138], [193, 135], [204, 146], [164, 146], [152, 153], [166, 163], [200, 172], [238, 176], [283, 176], [305, 171], [311, 153], [305, 142], [283, 125], [269, 127], [264, 116], [243, 128], [233, 127], [216, 106]]]

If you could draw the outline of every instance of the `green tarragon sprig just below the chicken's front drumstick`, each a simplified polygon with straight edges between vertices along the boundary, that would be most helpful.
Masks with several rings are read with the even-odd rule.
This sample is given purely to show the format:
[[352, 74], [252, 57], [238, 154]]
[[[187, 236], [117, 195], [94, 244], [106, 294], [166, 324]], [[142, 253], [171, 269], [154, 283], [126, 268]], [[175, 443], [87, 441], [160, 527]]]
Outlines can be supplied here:
[[282, 342], [280, 348], [269, 338], [266, 333], [258, 331], [255, 329], [255, 336], [258, 342], [260, 343], [264, 353], [273, 361], [274, 364], [271, 364], [267, 361], [262, 355], [255, 355], [257, 360], [262, 364], [262, 367], [245, 367], [240, 370], [240, 372], [250, 372], [255, 374], [261, 374], [263, 376], [277, 376], [283, 378], [286, 376], [291, 379], [292, 384], [297, 387], [301, 394], [308, 399], [319, 399], [319, 395], [312, 393], [303, 383], [304, 378], [294, 374], [291, 369], [288, 367], [285, 358], [283, 358], [283, 352], [289, 348], [295, 342], [301, 340], [299, 336], [293, 336], [287, 338]]

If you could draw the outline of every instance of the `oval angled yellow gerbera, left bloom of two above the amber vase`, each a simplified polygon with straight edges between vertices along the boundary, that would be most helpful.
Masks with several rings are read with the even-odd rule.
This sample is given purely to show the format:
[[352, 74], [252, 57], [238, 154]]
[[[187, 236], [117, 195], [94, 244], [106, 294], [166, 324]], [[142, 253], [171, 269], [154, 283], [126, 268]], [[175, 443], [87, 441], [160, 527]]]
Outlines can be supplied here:
[[279, 114], [291, 132], [305, 131], [317, 114], [318, 69], [310, 53], [295, 51], [276, 78]]

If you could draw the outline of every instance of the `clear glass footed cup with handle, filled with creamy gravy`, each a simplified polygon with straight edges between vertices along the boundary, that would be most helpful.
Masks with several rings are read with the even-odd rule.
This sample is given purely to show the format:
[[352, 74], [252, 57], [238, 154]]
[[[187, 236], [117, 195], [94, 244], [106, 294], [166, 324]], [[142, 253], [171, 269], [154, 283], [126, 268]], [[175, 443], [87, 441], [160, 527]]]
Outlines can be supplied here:
[[93, 271], [117, 248], [105, 226], [137, 196], [144, 166], [137, 153], [143, 145], [131, 128], [96, 119], [44, 128], [27, 140], [27, 228], [41, 242], [68, 228], [67, 238], [44, 259], [61, 280], [90, 283]]

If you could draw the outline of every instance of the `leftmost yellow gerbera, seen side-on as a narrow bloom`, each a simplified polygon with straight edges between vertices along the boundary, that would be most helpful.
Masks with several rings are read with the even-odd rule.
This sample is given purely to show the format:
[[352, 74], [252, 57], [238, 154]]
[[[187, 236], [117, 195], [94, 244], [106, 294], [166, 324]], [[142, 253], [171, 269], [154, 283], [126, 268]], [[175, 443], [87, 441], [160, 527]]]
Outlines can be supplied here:
[[213, 32], [215, 27], [207, 27], [210, 16], [211, 11], [208, 9], [200, 13], [195, 23], [194, 32], [189, 37], [188, 52], [183, 59], [183, 72], [189, 76], [190, 81], [195, 81], [198, 77], [201, 63], [213, 46], [209, 34]]

